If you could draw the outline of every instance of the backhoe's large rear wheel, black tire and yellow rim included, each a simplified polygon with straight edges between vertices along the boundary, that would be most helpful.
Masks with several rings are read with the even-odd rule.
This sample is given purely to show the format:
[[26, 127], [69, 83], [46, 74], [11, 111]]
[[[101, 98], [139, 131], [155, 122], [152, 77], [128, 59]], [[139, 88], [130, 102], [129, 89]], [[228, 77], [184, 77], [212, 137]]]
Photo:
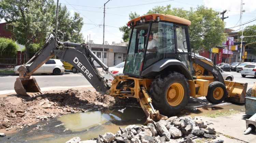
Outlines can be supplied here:
[[150, 87], [154, 107], [166, 116], [175, 115], [184, 109], [189, 92], [187, 79], [177, 72], [157, 76]]

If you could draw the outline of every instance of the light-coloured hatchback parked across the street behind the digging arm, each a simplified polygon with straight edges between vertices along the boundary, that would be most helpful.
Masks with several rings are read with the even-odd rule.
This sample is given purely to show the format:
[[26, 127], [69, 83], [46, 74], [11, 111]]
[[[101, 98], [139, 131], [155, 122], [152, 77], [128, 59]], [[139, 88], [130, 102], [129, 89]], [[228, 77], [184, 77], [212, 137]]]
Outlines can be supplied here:
[[[31, 64], [27, 64], [26, 66], [30, 66]], [[15, 74], [19, 74], [18, 68], [21, 65], [17, 65], [14, 67], [13, 71]], [[60, 75], [65, 70], [63, 63], [57, 59], [49, 59], [46, 63], [44, 63], [41, 67], [39, 67], [33, 74], [38, 73], [52, 73], [53, 75]]]

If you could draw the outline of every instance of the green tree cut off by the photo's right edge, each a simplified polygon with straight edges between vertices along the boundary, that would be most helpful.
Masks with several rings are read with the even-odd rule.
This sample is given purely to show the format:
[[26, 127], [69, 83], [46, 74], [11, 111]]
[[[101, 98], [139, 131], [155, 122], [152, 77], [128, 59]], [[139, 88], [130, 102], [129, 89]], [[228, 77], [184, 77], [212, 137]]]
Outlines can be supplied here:
[[[254, 35], [256, 35], [255, 30], [256, 30], [256, 25], [246, 26], [244, 28], [244, 31], [243, 31], [244, 36], [253, 36], [253, 37], [244, 37], [243, 38], [243, 41], [245, 41], [246, 44], [256, 42], [256, 40], [255, 40], [256, 36], [254, 36]], [[242, 35], [242, 31], [239, 32], [239, 35]], [[241, 42], [240, 38], [239, 38], [239, 40]], [[253, 49], [253, 54], [256, 54], [256, 43], [250, 44], [250, 45], [248, 45], [248, 47]]]

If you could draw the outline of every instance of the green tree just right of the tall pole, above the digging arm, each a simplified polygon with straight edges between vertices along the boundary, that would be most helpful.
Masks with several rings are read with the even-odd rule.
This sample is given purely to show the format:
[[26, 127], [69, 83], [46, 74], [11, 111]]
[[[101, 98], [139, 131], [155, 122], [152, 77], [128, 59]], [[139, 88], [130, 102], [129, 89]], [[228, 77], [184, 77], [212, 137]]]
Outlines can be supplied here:
[[[53, 25], [55, 25], [55, 21], [53, 21]], [[85, 41], [83, 34], [81, 33], [83, 25], [83, 18], [80, 17], [79, 13], [75, 12], [74, 16], [71, 17], [67, 6], [61, 6], [61, 4], [59, 5], [58, 30], [64, 34], [63, 41], [83, 43]]]

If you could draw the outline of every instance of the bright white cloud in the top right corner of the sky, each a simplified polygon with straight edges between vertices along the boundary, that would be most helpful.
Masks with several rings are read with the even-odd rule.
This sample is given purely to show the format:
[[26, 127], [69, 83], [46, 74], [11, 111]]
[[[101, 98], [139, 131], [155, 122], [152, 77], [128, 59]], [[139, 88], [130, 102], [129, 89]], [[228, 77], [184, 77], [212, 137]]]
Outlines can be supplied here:
[[[212, 7], [214, 10], [223, 11], [230, 10], [240, 12], [241, 0], [203, 0], [207, 7]], [[256, 0], [243, 0], [243, 10], [245, 12], [253, 12], [256, 10]]]

